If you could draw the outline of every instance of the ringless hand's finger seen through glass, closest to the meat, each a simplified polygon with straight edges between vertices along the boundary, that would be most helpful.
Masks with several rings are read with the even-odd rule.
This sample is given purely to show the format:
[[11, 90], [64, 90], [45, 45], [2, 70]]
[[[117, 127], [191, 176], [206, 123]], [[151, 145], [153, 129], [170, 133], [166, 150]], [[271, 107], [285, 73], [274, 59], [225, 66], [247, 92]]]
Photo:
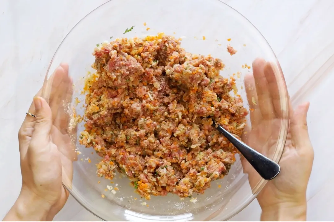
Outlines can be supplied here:
[[244, 78], [244, 82], [247, 101], [249, 105], [249, 116], [251, 118], [251, 124], [254, 127], [257, 123], [260, 123], [262, 115], [259, 105], [256, 102], [258, 101], [258, 97], [256, 95], [255, 81], [253, 75], [247, 74]]

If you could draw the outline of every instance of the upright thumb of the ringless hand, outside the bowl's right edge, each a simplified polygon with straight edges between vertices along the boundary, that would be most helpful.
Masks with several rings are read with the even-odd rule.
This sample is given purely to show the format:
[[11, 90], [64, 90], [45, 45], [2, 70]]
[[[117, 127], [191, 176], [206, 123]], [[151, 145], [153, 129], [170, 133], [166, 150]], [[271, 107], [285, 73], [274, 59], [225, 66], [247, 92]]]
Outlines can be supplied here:
[[298, 106], [290, 120], [292, 144], [296, 149], [311, 145], [306, 121], [309, 106], [309, 102]]

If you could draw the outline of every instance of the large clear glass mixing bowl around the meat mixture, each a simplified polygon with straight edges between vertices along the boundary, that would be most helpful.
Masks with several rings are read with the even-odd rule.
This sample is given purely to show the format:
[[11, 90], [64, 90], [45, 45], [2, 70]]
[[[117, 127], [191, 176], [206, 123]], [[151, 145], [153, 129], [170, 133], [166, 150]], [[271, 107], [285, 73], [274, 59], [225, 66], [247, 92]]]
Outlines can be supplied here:
[[[133, 30], [124, 34], [132, 26]], [[274, 52], [247, 19], [218, 0], [169, 0], [168, 3], [112, 0], [89, 13], [68, 33], [54, 54], [45, 77], [43, 97], [50, 103], [52, 92], [63, 90], [62, 80], [50, 78], [61, 62], [69, 65], [69, 76], [73, 81], [72, 97], [59, 103], [57, 109], [52, 109], [55, 115], [65, 111], [72, 117], [65, 127], [59, 128], [63, 134], [70, 136], [69, 143], [77, 152], [77, 157], [72, 159], [73, 179], [70, 169], [63, 173], [63, 183], [83, 207], [106, 221], [228, 220], [253, 201], [266, 184], [247, 162], [242, 158], [240, 160], [238, 154], [228, 175], [211, 182], [211, 188], [204, 194], [193, 195], [197, 198], [196, 203], [189, 198], [181, 200], [173, 194], [145, 200], [134, 192], [129, 185], [130, 180], [120, 173], [113, 179], [113, 184], [110, 180], [97, 177], [95, 164], [101, 157], [93, 152], [93, 148], [85, 148], [77, 141], [83, 122], [74, 127], [73, 113], [82, 115], [84, 112], [81, 105], [85, 103], [85, 95], [81, 91], [84, 77], [88, 72], [94, 72], [91, 65], [95, 61], [92, 52], [96, 45], [109, 41], [111, 37], [145, 37], [160, 32], [181, 38], [181, 46], [188, 52], [211, 54], [223, 61], [226, 67], [220, 75], [236, 79], [238, 93], [244, 106], [250, 110], [243, 140], [274, 161], [279, 161], [288, 130], [287, 88]], [[227, 45], [231, 45], [237, 53], [231, 56]], [[267, 79], [261, 79], [264, 68], [256, 65], [259, 60], [255, 65], [257, 69], [260, 67], [257, 71], [260, 74], [253, 75], [251, 64], [256, 58], [270, 62], [267, 66], [270, 67], [270, 71], [267, 70], [270, 77], [267, 75]], [[254, 83], [266, 83], [270, 93], [275, 89], [274, 95], [268, 94], [275, 109], [258, 118], [256, 121], [259, 122], [251, 121], [251, 118], [264, 111], [261, 100], [268, 95], [261, 90], [262, 85], [259, 88]], [[81, 101], [79, 105], [78, 101]], [[261, 124], [258, 124], [260, 121]], [[107, 185], [117, 187], [117, 192], [113, 194]]]

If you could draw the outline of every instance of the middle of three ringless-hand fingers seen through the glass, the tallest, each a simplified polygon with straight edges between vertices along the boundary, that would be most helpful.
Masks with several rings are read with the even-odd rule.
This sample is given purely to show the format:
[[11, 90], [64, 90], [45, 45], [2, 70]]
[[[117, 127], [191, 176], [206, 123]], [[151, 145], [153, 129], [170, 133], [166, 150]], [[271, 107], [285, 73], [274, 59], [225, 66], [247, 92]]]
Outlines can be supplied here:
[[256, 92], [258, 95], [258, 104], [264, 119], [274, 118], [274, 108], [270, 97], [268, 83], [264, 75], [266, 61], [264, 59], [256, 59], [253, 62], [253, 75], [255, 80]]

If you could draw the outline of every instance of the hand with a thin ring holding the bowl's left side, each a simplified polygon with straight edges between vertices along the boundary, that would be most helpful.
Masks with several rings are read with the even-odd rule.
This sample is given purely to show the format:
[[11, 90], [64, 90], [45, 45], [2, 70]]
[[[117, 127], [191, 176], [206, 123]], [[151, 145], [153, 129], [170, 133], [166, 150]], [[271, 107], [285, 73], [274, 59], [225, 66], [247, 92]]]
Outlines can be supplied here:
[[[49, 104], [43, 92], [50, 92]], [[63, 108], [71, 96], [68, 66], [61, 64], [33, 99], [28, 112], [36, 117], [27, 115], [19, 130], [22, 188], [4, 220], [52, 220], [64, 206], [69, 193], [62, 183], [70, 186], [77, 158]]]

